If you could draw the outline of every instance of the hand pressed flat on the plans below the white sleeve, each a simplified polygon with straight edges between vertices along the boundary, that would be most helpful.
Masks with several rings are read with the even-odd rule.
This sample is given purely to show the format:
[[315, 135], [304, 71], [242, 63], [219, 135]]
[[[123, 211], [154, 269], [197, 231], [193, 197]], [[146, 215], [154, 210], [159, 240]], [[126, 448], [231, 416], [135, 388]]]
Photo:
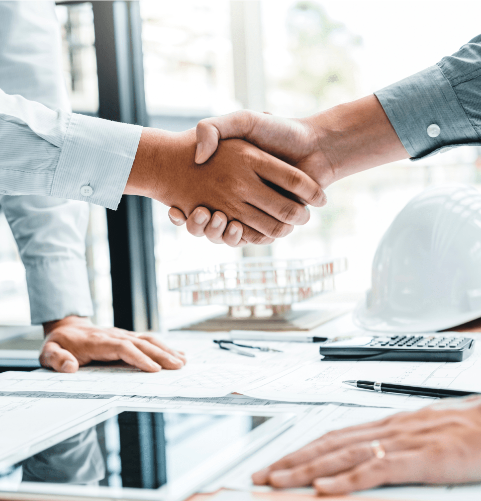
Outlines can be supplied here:
[[145, 372], [180, 369], [186, 362], [183, 352], [168, 348], [149, 333], [97, 327], [84, 317], [46, 322], [44, 332], [40, 363], [58, 372], [76, 372], [92, 360], [123, 360]]

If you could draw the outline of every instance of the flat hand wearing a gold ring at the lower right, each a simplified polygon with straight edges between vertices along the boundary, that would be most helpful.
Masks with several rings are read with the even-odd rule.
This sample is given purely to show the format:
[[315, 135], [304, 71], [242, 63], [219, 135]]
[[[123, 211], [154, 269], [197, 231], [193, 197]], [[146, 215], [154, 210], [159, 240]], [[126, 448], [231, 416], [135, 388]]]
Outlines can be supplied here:
[[[373, 441], [384, 457], [375, 456]], [[313, 484], [318, 493], [331, 495], [383, 484], [479, 481], [481, 397], [446, 399], [327, 433], [254, 473], [252, 480], [274, 487]]]

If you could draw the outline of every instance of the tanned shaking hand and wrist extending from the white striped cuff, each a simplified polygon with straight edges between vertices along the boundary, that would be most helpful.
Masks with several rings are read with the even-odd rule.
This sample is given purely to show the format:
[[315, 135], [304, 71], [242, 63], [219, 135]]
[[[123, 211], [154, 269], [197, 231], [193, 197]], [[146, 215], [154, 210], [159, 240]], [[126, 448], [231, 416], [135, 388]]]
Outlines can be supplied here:
[[185, 215], [198, 206], [222, 211], [243, 226], [243, 238], [269, 243], [309, 220], [303, 203], [323, 204], [323, 191], [309, 176], [240, 139], [222, 141], [203, 165], [194, 161], [194, 130], [181, 133], [144, 128], [124, 193], [155, 198]]

